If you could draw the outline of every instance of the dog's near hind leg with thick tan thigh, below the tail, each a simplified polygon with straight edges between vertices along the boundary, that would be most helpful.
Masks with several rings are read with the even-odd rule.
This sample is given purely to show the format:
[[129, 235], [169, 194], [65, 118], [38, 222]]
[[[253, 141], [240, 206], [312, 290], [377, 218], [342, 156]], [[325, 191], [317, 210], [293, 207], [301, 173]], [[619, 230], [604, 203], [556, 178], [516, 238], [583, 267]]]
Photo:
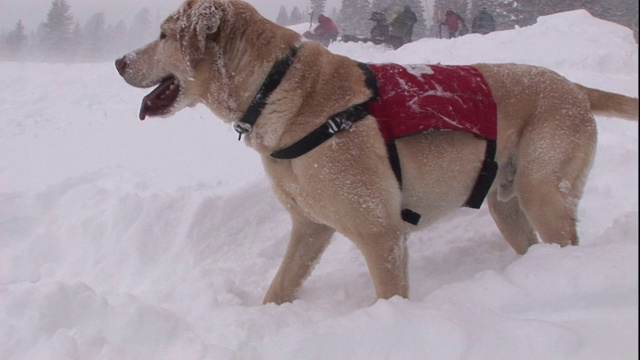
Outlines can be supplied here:
[[596, 148], [593, 118], [580, 114], [547, 114], [520, 144], [516, 196], [545, 243], [578, 245], [576, 212]]

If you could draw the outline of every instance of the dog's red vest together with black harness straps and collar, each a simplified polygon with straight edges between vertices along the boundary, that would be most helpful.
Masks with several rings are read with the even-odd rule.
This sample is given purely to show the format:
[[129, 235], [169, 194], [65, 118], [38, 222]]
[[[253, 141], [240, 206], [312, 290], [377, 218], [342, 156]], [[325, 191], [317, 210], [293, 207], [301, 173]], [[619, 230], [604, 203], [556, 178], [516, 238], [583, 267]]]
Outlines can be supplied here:
[[[271, 69], [249, 108], [234, 129], [240, 139], [250, 133], [266, 101], [293, 63], [297, 49]], [[471, 66], [403, 66], [364, 64], [366, 86], [373, 96], [336, 113], [297, 142], [271, 154], [276, 159], [294, 159], [313, 150], [336, 133], [349, 129], [367, 115], [374, 116], [385, 140], [389, 162], [402, 188], [402, 169], [395, 140], [430, 131], [466, 131], [487, 141], [485, 159], [471, 195], [463, 206], [478, 209], [497, 173], [495, 162], [497, 110], [491, 91], [480, 72]], [[469, 122], [467, 119], [475, 121]], [[420, 214], [401, 211], [402, 219], [417, 225]]]

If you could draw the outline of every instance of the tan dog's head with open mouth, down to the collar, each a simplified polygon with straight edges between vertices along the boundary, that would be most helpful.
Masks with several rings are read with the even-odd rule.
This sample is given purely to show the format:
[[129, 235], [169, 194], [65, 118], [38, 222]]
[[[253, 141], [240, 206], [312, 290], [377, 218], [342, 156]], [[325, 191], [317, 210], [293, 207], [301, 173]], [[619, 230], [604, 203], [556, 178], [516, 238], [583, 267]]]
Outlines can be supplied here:
[[244, 111], [252, 86], [259, 86], [274, 59], [297, 41], [295, 33], [274, 31], [281, 29], [245, 2], [187, 0], [163, 22], [155, 41], [116, 60], [116, 68], [132, 86], [157, 86], [142, 101], [141, 120], [198, 103], [231, 120]]

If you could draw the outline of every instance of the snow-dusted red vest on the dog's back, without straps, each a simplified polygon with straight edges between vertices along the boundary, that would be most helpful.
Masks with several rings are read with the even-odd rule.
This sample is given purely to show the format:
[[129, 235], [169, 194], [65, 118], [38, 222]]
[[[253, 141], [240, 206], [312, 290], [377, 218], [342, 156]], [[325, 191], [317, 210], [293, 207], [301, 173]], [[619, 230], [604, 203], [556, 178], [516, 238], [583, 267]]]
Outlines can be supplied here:
[[435, 130], [466, 131], [495, 140], [491, 90], [471, 66], [368, 64], [379, 98], [368, 103], [385, 141]]

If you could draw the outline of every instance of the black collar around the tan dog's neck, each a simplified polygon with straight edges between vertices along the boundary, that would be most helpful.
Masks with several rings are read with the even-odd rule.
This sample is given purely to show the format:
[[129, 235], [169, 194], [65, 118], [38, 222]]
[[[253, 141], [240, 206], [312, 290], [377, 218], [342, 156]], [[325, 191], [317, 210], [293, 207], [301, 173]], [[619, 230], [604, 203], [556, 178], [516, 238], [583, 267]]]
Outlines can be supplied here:
[[284, 75], [291, 67], [291, 64], [293, 64], [293, 60], [297, 53], [298, 48], [294, 46], [289, 50], [289, 53], [285, 57], [278, 60], [273, 65], [271, 71], [267, 75], [267, 78], [264, 80], [260, 89], [258, 89], [256, 96], [253, 98], [253, 101], [251, 101], [247, 111], [242, 115], [240, 120], [234, 122], [233, 128], [238, 133], [238, 140], [242, 138], [242, 135], [247, 135], [253, 131], [253, 126], [255, 125], [256, 120], [258, 120], [258, 117], [260, 117], [262, 109], [264, 109], [267, 104], [267, 99], [278, 85], [280, 85], [282, 78], [284, 78]]

